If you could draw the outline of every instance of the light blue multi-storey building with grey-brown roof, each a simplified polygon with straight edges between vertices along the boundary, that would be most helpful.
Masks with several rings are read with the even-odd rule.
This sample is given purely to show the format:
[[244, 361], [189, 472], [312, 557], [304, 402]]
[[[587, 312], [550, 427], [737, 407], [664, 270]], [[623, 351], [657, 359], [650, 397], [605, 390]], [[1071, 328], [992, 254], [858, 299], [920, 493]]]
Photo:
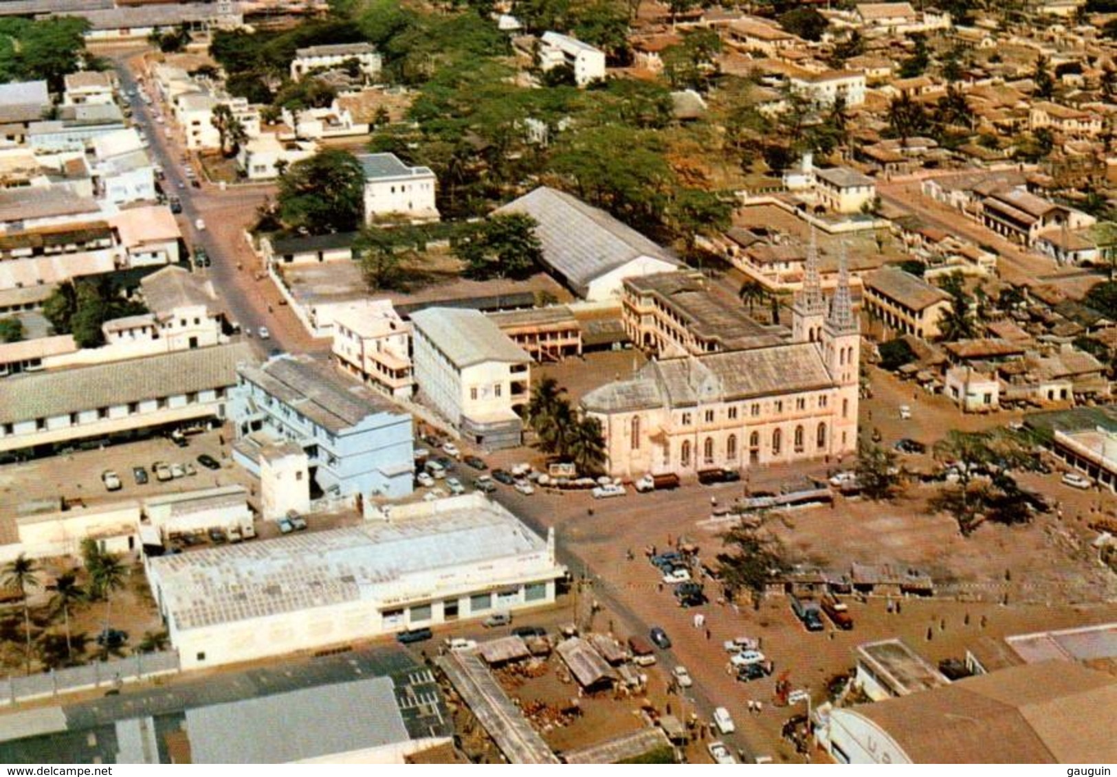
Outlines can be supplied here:
[[230, 415], [233, 458], [257, 477], [261, 449], [289, 440], [327, 496], [411, 493], [411, 415], [328, 364], [281, 355], [239, 370]]

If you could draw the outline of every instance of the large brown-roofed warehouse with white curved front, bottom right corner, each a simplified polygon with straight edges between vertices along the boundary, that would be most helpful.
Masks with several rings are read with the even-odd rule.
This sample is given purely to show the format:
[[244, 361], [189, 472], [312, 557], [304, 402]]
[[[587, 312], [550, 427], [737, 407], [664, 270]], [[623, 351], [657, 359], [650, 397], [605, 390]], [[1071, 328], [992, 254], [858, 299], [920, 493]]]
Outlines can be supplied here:
[[842, 764], [1111, 764], [1115, 706], [1111, 675], [1044, 661], [832, 709], [823, 746]]

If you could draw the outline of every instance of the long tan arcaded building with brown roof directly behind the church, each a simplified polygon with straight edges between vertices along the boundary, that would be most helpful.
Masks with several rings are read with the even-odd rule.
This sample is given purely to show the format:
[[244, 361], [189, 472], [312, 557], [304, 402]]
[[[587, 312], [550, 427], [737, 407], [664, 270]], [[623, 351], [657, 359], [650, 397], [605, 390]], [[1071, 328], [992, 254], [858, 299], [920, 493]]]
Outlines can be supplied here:
[[779, 345], [790, 338], [765, 326], [741, 301], [700, 272], [659, 272], [624, 279], [622, 320], [629, 339], [659, 358]]

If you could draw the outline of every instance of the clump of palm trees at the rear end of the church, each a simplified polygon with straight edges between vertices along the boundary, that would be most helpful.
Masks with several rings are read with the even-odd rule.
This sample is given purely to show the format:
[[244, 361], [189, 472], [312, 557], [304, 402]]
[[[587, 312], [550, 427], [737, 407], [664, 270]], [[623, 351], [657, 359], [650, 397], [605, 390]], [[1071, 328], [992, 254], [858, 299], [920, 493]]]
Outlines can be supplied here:
[[536, 383], [527, 404], [527, 423], [541, 451], [573, 462], [579, 474], [600, 474], [607, 457], [601, 423], [572, 407], [565, 394], [553, 377]]

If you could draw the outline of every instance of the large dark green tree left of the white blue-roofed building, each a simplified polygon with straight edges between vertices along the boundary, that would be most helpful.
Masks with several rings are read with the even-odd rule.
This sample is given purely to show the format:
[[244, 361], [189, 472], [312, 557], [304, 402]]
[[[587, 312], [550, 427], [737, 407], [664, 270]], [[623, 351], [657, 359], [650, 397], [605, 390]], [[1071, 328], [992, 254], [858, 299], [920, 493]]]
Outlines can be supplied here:
[[278, 214], [288, 229], [352, 232], [363, 213], [364, 170], [349, 152], [319, 152], [290, 165], [279, 179]]

